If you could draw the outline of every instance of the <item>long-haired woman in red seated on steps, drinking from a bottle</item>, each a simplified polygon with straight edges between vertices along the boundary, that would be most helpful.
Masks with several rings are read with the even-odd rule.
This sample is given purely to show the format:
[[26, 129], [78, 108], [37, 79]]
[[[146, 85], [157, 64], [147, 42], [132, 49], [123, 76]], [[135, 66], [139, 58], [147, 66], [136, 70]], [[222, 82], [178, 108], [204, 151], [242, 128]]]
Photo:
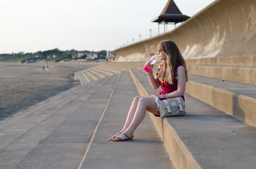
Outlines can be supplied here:
[[[157, 106], [154, 97], [160, 100], [167, 98], [182, 97], [188, 81], [188, 71], [184, 58], [182, 57], [177, 45], [171, 40], [162, 40], [157, 46], [160, 64], [156, 76], [153, 76], [153, 67], [147, 73], [151, 86], [156, 90], [159, 86], [162, 91], [158, 94], [152, 93], [151, 97], [138, 96], [135, 97], [131, 104], [125, 125], [123, 129], [112, 136], [110, 141], [128, 141], [133, 140], [133, 133], [140, 122], [144, 119], [146, 111], [158, 116]], [[149, 65], [149, 61], [144, 66]]]

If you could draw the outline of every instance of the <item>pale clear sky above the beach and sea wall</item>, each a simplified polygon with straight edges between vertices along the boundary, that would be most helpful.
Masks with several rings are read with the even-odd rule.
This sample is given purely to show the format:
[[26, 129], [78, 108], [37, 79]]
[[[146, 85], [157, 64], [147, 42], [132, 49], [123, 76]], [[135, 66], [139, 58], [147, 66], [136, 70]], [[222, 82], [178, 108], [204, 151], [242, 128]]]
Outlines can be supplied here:
[[[174, 0], [194, 16], [215, 0]], [[0, 0], [0, 54], [114, 50], [152, 36], [168, 0]], [[176, 24], [176, 27], [179, 24]], [[174, 25], [168, 25], [168, 30]], [[160, 33], [163, 33], [160, 25]]]

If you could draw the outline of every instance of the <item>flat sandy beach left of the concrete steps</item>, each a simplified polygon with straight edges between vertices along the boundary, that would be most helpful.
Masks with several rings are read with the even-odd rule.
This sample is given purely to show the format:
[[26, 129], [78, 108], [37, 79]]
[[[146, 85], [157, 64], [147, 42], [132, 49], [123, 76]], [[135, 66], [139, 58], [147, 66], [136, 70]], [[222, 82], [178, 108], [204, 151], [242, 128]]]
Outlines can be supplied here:
[[[99, 63], [0, 63], [0, 121], [71, 87], [74, 73]], [[43, 71], [43, 65], [45, 69]]]

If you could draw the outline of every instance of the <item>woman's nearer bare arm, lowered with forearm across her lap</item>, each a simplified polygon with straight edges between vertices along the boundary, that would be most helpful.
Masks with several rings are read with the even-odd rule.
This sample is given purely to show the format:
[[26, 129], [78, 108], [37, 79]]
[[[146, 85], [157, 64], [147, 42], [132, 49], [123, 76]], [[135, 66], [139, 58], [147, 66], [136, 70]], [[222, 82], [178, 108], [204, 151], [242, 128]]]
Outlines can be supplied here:
[[168, 98], [175, 98], [183, 96], [186, 89], [186, 74], [185, 68], [183, 66], [179, 66], [177, 68], [177, 82], [178, 82], [178, 90], [172, 93], [166, 94]]

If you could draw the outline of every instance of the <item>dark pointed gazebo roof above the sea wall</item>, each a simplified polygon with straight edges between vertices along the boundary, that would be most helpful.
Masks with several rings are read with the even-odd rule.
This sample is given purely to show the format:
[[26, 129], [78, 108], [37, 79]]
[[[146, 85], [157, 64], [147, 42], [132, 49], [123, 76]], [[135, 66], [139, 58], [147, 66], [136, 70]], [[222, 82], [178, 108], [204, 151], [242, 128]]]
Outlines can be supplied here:
[[176, 6], [173, 0], [169, 0], [160, 16], [151, 20], [151, 22], [174, 22], [175, 24], [177, 24], [179, 22], [187, 20], [188, 18], [190, 17], [183, 15], [180, 12], [179, 8]]

